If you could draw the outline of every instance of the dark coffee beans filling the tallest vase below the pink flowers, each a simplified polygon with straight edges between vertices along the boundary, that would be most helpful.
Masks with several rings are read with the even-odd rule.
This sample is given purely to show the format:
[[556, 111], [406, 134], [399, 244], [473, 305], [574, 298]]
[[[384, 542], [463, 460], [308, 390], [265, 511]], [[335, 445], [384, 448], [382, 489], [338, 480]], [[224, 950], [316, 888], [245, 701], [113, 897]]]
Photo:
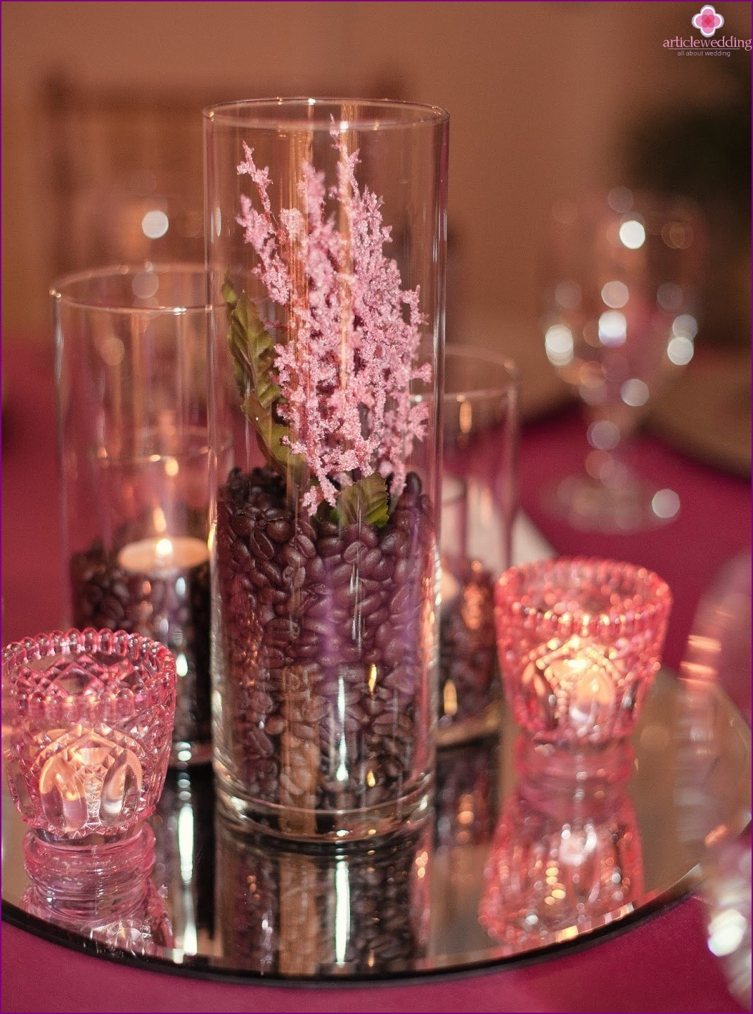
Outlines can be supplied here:
[[419, 477], [376, 528], [301, 517], [275, 472], [233, 469], [217, 553], [223, 738], [248, 797], [348, 810], [410, 791], [430, 750], [435, 638]]

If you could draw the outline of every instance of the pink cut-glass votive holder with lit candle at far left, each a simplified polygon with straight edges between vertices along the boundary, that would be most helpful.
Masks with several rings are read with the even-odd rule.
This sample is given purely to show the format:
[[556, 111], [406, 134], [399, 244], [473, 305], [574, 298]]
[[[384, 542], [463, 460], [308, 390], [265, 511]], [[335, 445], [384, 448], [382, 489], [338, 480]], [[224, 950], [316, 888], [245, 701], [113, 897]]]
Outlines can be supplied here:
[[23, 820], [69, 844], [138, 835], [167, 772], [175, 679], [167, 648], [123, 631], [4, 648], [3, 760]]

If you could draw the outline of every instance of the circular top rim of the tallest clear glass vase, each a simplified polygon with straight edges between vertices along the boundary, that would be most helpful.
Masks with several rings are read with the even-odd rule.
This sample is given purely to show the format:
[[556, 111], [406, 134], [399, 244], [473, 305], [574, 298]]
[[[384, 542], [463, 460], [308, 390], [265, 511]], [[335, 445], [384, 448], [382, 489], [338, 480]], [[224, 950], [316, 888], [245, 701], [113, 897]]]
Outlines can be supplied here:
[[[202, 116], [208, 123], [217, 123], [223, 127], [245, 127], [252, 130], [279, 131], [305, 131], [313, 133], [317, 131], [326, 132], [332, 129], [330, 115], [332, 107], [342, 108], [344, 105], [354, 105], [369, 108], [371, 111], [383, 110], [384, 117], [371, 116], [357, 121], [344, 121], [336, 124], [340, 133], [350, 130], [400, 130], [405, 128], [437, 126], [446, 124], [450, 119], [450, 114], [441, 105], [432, 105], [424, 102], [405, 102], [393, 98], [358, 98], [312, 95], [291, 95], [272, 96], [267, 98], [242, 98], [230, 102], [219, 102], [215, 105], [208, 105], [202, 111]], [[316, 119], [309, 115], [301, 116], [299, 120], [285, 120], [278, 115], [274, 116], [275, 110], [294, 110], [300, 106], [302, 110], [315, 111]], [[388, 116], [388, 112], [392, 116]], [[399, 116], [399, 114], [403, 116]]]

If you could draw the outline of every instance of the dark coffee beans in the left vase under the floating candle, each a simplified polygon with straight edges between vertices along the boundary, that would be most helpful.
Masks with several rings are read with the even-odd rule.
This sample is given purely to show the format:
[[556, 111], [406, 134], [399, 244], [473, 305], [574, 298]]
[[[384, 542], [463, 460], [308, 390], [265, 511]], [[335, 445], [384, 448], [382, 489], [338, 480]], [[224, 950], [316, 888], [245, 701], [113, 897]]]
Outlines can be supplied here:
[[[119, 532], [117, 545], [141, 537], [135, 530], [131, 538]], [[141, 634], [183, 656], [173, 740], [210, 741], [209, 562], [160, 576], [138, 574], [96, 541], [71, 557], [70, 578], [75, 627]]]

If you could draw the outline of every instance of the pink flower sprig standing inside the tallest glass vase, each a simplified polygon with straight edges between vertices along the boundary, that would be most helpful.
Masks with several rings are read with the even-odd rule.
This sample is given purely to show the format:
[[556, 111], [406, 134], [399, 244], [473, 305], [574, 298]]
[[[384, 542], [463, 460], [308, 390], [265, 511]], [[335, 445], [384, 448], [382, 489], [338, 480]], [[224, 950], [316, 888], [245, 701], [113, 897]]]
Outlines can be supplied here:
[[[259, 169], [243, 145], [239, 173], [253, 180], [261, 210], [241, 197], [238, 223], [258, 257], [254, 273], [270, 298], [287, 307], [288, 341], [276, 347], [280, 418], [289, 426], [291, 452], [305, 457], [316, 484], [303, 499], [312, 513], [322, 500], [334, 506], [341, 489], [378, 472], [398, 495], [413, 440], [426, 434], [428, 407], [412, 404], [411, 382], [431, 381], [431, 366], [415, 367], [426, 322], [419, 289], [403, 290], [395, 262], [382, 249], [390, 241], [381, 198], [356, 179], [358, 151], [349, 153], [332, 131], [340, 153], [337, 185], [301, 167], [299, 208], [276, 220], [269, 198], [269, 169]], [[338, 221], [325, 202], [340, 205]]]

